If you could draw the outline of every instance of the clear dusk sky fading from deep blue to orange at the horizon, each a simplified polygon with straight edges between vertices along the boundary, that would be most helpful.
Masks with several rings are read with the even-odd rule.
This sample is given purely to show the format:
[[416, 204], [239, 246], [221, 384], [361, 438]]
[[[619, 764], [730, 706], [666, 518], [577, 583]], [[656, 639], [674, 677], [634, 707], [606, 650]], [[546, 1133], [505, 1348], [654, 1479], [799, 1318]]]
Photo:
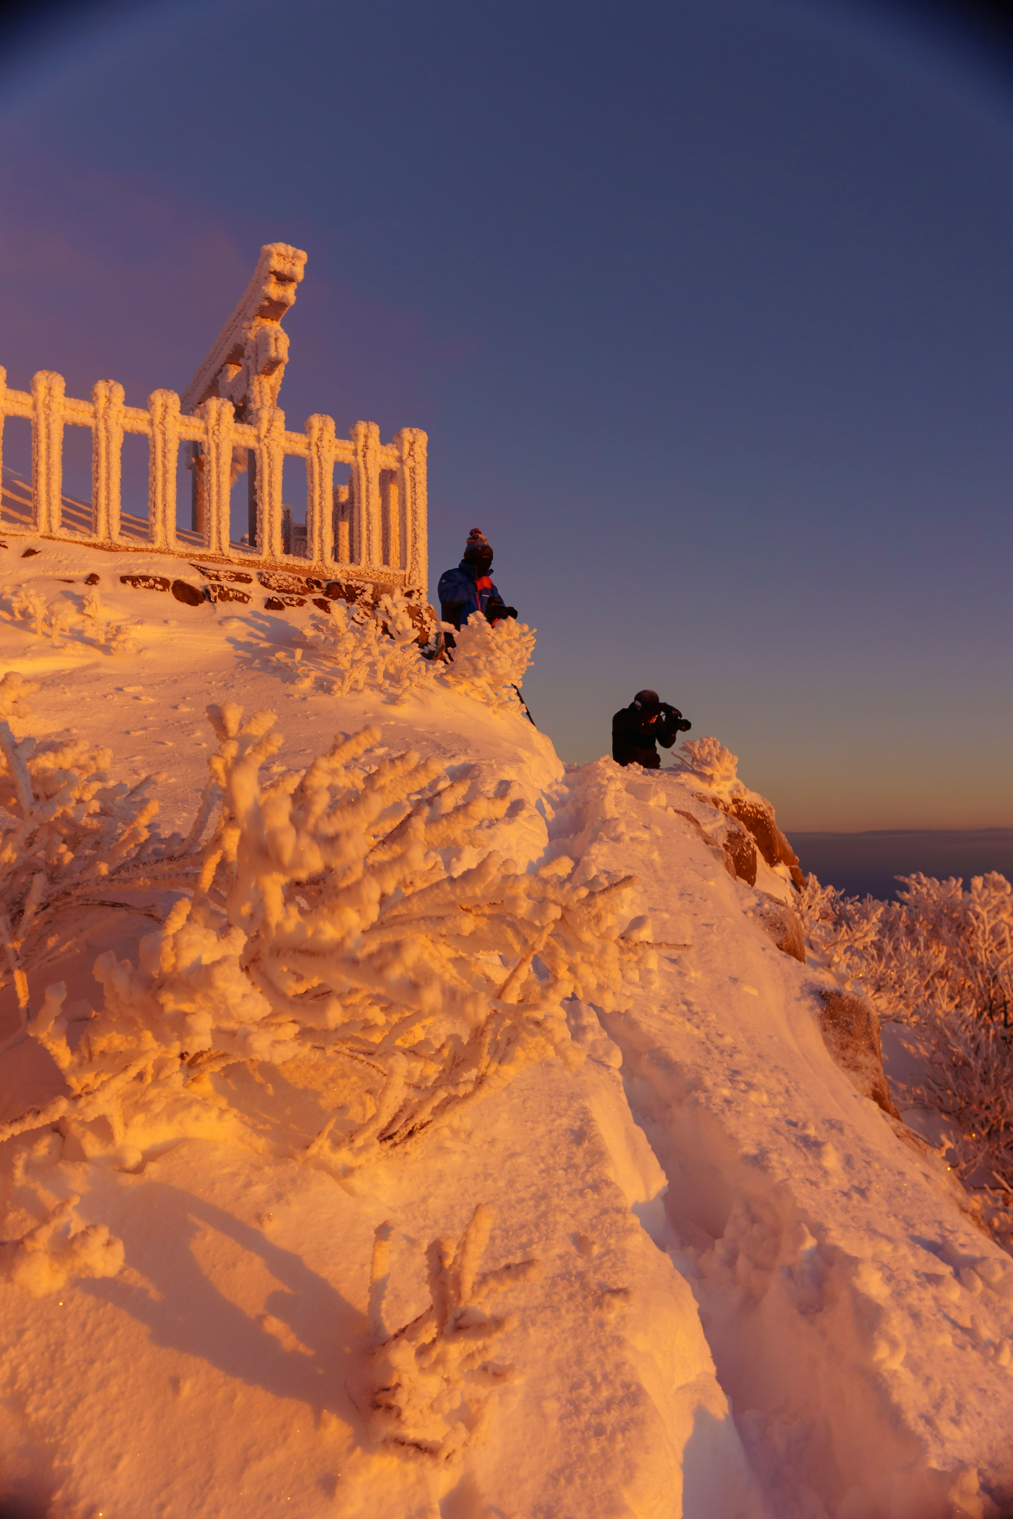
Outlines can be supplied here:
[[290, 425], [427, 428], [431, 591], [481, 527], [563, 758], [653, 685], [787, 828], [1013, 823], [1001, 52], [857, 0], [58, 15], [0, 71], [11, 384], [182, 389], [296, 243]]

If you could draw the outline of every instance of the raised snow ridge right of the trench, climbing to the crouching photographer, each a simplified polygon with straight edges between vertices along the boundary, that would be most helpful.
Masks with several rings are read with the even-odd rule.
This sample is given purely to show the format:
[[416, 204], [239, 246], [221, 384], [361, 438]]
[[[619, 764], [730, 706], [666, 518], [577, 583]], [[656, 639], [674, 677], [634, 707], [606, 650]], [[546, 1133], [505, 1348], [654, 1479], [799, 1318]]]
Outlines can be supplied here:
[[696, 802], [708, 820], [699, 779], [609, 761], [568, 779], [585, 869], [627, 866], [636, 848], [655, 937], [694, 940], [601, 1022], [668, 1183], [652, 1235], [693, 1284], [775, 1511], [998, 1511], [1013, 1262], [942, 1164], [832, 1063], [816, 1018], [829, 978], [746, 916], [753, 890], [682, 816]]

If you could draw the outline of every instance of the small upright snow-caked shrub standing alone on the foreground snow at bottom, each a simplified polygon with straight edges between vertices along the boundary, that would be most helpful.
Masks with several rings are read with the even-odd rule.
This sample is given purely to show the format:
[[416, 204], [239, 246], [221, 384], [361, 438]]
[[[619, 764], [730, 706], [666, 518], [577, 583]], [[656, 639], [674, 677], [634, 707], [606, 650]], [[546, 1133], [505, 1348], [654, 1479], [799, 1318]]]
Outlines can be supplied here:
[[541, 1276], [538, 1261], [478, 1271], [492, 1220], [492, 1209], [480, 1203], [460, 1241], [433, 1240], [433, 1300], [392, 1335], [383, 1323], [392, 1226], [380, 1224], [374, 1240], [369, 1320], [378, 1385], [372, 1390], [372, 1423], [383, 1442], [436, 1464], [457, 1460], [466, 1445], [483, 1438], [492, 1414], [489, 1394], [515, 1375], [512, 1366], [491, 1360], [495, 1340], [512, 1320], [491, 1317], [488, 1300]]

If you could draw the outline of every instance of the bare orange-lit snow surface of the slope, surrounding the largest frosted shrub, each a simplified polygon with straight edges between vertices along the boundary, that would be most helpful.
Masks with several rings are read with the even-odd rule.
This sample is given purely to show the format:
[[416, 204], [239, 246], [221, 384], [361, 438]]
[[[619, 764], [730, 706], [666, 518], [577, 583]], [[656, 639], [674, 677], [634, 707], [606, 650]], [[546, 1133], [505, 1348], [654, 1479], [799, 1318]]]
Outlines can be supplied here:
[[[23, 559], [8, 542], [0, 674], [38, 682], [14, 732], [105, 744], [132, 784], [164, 772], [166, 828], [188, 825], [205, 784], [205, 706], [231, 700], [278, 714], [286, 766], [374, 725], [374, 763], [412, 749], [451, 776], [472, 764], [475, 794], [510, 782], [518, 805], [480, 823], [454, 875], [495, 849], [507, 895], [513, 866], [563, 858], [573, 887], [636, 876], [612, 940], [629, 969], [566, 1000], [565, 1047], [507, 1062], [399, 1153], [307, 1148], [348, 1107], [308, 1059], [213, 1074], [185, 1116], [170, 1104], [117, 1133], [71, 1113], [9, 1138], [9, 1504], [52, 1519], [1013, 1511], [1013, 1262], [831, 1059], [832, 983], [758, 911], [790, 896], [785, 872], [761, 860], [756, 889], [729, 875], [700, 776], [565, 772], [516, 708], [436, 679], [334, 696], [313, 606], [188, 606], [120, 585], [164, 561], [44, 541]], [[132, 632], [93, 636], [88, 574]], [[32, 630], [18, 589], [77, 621]], [[93, 963], [135, 963], [152, 931], [102, 924], [32, 975], [30, 1016], [62, 980], [68, 1028], [87, 1030]], [[516, 960], [484, 954], [501, 975]], [[11, 986], [2, 1016], [11, 1120], [65, 1088], [18, 1036]]]

